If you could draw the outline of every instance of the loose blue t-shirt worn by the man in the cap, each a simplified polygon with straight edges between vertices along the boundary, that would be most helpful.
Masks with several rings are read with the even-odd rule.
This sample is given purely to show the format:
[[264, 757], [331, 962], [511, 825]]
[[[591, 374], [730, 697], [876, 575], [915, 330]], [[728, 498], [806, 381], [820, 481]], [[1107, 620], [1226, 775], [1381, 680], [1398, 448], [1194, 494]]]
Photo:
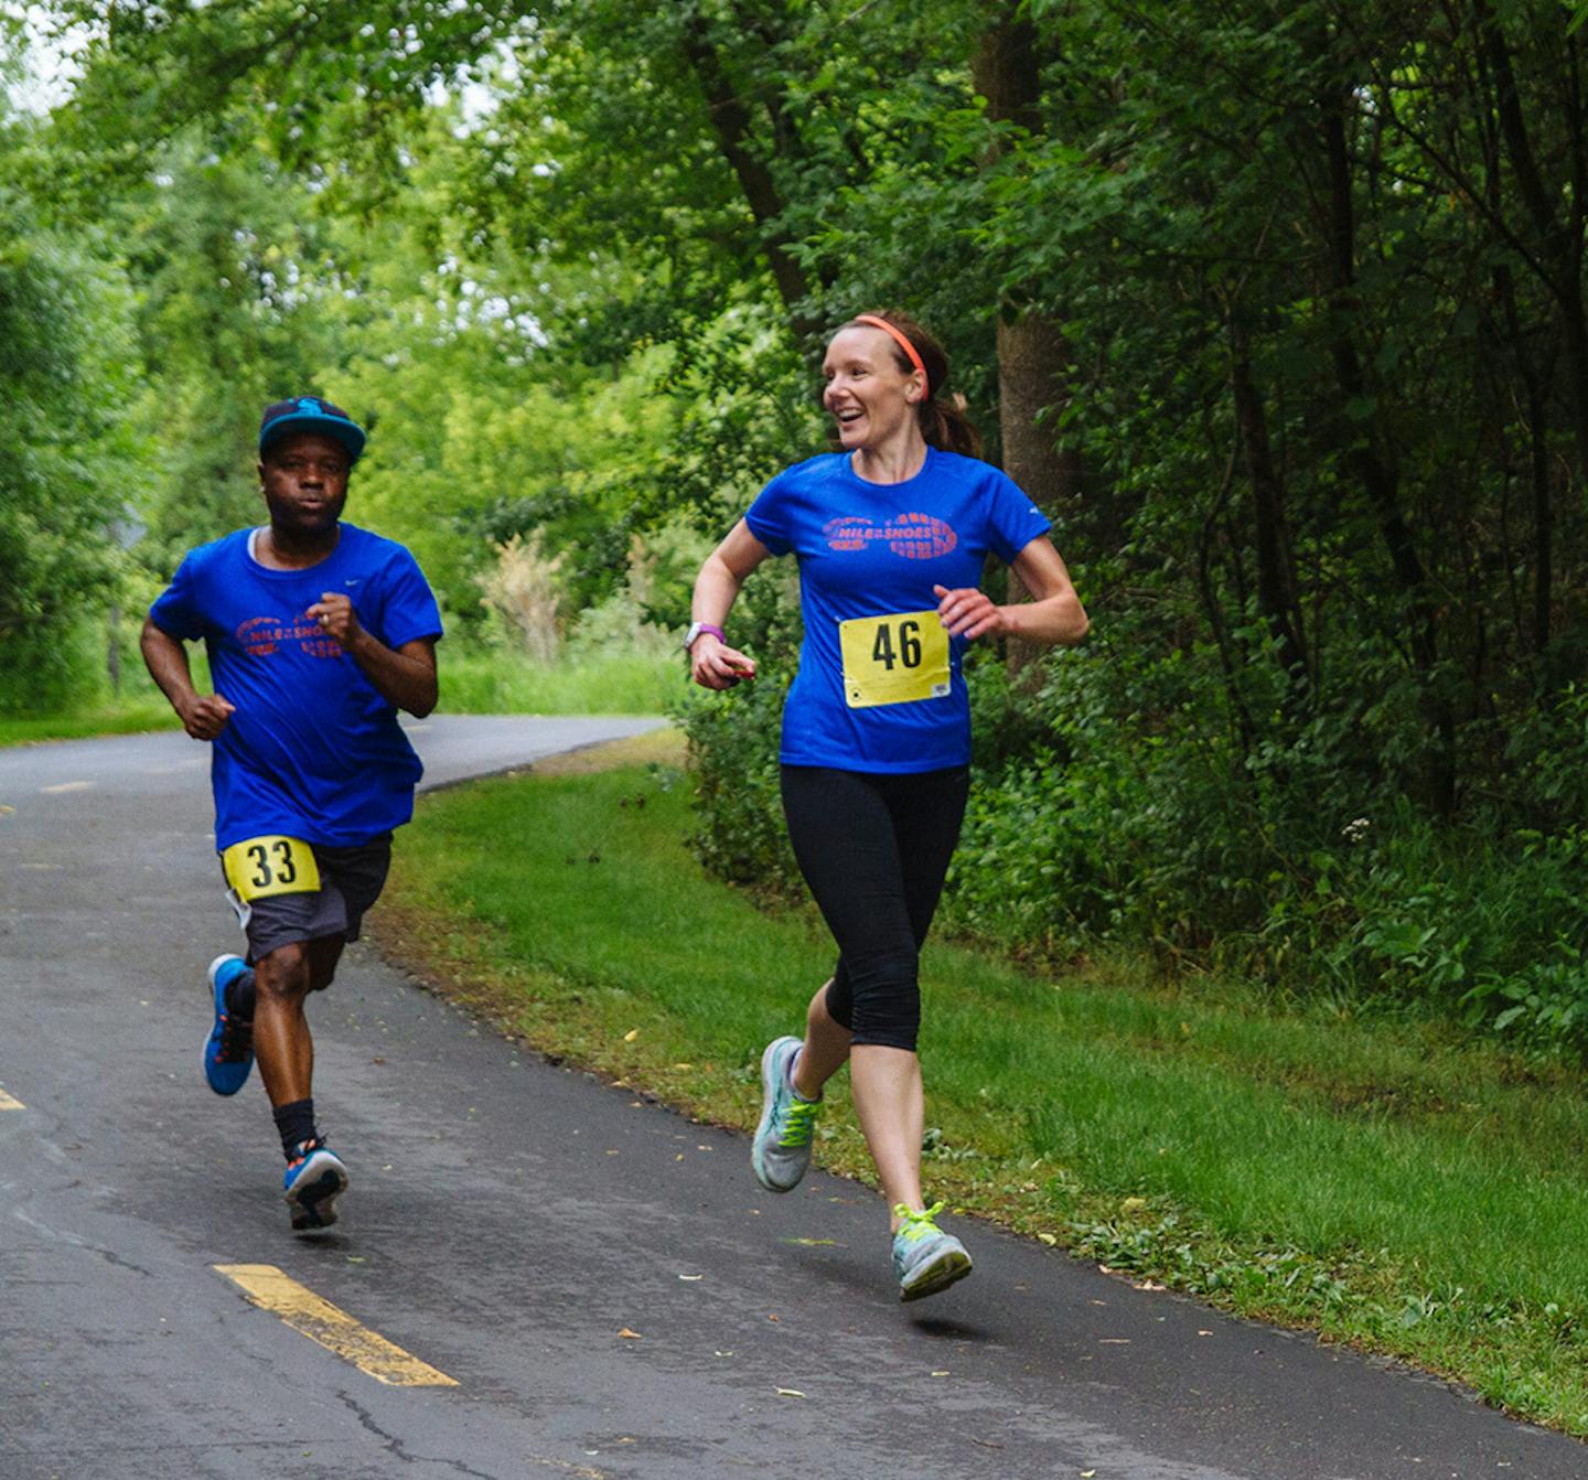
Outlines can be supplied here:
[[203, 638], [214, 692], [237, 705], [210, 765], [216, 848], [276, 832], [348, 848], [413, 816], [424, 767], [397, 710], [305, 613], [345, 592], [387, 648], [440, 637], [441, 613], [402, 545], [338, 529], [305, 570], [260, 565], [246, 529], [200, 545], [149, 608], [167, 635]]

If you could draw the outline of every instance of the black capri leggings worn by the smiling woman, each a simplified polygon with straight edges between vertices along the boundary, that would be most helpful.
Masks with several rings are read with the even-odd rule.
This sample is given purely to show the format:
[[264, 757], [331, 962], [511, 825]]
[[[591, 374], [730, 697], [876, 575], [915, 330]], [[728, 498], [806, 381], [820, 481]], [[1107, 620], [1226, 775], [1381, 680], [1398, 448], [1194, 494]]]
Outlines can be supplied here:
[[794, 858], [838, 942], [827, 1012], [856, 1043], [915, 1050], [916, 962], [959, 842], [970, 770], [783, 767]]

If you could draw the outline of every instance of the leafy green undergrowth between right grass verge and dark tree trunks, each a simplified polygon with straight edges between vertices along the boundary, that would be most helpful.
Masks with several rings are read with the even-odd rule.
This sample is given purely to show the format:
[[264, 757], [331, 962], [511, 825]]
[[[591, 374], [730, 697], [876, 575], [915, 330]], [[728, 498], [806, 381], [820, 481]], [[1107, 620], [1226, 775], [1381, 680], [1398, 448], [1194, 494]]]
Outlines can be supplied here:
[[[686, 710], [694, 846], [723, 878], [796, 888], [775, 759], [792, 642], [775, 602], [757, 621], [778, 662]], [[1588, 696], [1512, 735], [1513, 794], [1445, 819], [1401, 789], [1428, 735], [1394, 654], [1364, 645], [1348, 689], [1301, 705], [1261, 634], [1247, 651], [1229, 673], [1197, 643], [1104, 637], [1013, 680], [973, 651], [975, 775], [940, 926], [1588, 1046], [1588, 829], [1563, 821], [1588, 804]]]

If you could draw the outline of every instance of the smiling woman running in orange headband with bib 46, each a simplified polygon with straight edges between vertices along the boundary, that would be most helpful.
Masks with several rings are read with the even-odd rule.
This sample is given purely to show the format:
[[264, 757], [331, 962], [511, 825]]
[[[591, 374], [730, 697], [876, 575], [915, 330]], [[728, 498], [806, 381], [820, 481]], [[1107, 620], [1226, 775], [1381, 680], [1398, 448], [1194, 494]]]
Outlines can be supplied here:
[[[754, 678], [729, 646], [729, 611], [769, 556], [792, 553], [805, 640], [783, 708], [783, 810], [800, 872], [838, 945], [805, 1037], [767, 1045], [765, 1104], [751, 1148], [764, 1188], [805, 1175], [823, 1086], [845, 1062], [861, 1131], [892, 1208], [900, 1297], [970, 1274], [964, 1245], [921, 1196], [924, 1102], [916, 961], [959, 840], [970, 762], [967, 642], [1008, 634], [1077, 643], [1086, 613], [1048, 519], [942, 397], [948, 357], [918, 324], [864, 313], [823, 362], [823, 405], [842, 451], [762, 489], [700, 568], [686, 645], [708, 689]], [[978, 589], [988, 551], [1032, 600]]]

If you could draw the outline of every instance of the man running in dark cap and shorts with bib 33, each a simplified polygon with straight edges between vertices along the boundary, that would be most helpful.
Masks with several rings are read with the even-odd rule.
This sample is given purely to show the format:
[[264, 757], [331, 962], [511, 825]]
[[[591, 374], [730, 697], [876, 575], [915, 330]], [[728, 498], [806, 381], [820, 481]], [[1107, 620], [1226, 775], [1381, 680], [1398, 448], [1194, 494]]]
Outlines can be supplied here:
[[[297, 1232], [337, 1221], [348, 1169], [314, 1124], [303, 1002], [330, 986], [413, 816], [419, 757], [397, 710], [435, 708], [441, 618], [413, 556], [341, 522], [364, 429], [327, 400], [265, 408], [270, 513], [183, 559], [143, 624], [143, 659], [195, 740], [213, 742], [214, 843], [246, 958], [210, 964], [203, 1069], [237, 1094], [254, 1058], [287, 1158]], [[200, 694], [184, 642], [203, 640]]]

